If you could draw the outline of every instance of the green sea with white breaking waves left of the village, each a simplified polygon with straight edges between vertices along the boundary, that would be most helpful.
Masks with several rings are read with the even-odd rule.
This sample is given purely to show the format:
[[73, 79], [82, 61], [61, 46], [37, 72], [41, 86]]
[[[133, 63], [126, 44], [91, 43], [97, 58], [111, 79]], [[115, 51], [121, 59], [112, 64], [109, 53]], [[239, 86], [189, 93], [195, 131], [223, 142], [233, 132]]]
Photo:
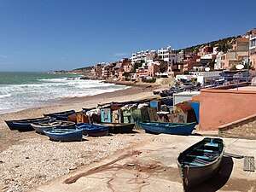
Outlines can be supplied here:
[[84, 80], [81, 74], [0, 72], [0, 113], [49, 106], [67, 97], [94, 96], [127, 86]]

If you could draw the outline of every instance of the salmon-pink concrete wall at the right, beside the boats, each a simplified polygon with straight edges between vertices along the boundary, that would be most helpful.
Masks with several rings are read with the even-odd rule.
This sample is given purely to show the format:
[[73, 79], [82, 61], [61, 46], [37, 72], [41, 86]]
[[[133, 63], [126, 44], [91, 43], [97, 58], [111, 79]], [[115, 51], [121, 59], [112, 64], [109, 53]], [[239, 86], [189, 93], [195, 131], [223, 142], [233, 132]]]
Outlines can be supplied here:
[[256, 91], [226, 89], [227, 86], [201, 90], [200, 130], [218, 130], [220, 125], [256, 113]]

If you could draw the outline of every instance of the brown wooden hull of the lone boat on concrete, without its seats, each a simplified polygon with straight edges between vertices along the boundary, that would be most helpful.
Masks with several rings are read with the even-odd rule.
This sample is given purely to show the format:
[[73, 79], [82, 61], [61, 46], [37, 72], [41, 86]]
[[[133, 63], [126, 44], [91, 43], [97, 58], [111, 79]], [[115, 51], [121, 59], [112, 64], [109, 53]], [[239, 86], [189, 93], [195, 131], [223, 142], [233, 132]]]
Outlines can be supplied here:
[[[207, 143], [212, 141], [217, 141], [219, 149], [216, 150], [218, 153], [214, 154], [216, 157], [210, 160], [202, 160], [201, 155], [195, 155], [195, 159], [189, 160], [190, 156], [196, 152], [203, 143]], [[197, 149], [196, 149], [197, 148]], [[204, 149], [209, 150], [209, 148]], [[205, 152], [203, 152], [205, 153]], [[207, 152], [208, 153], [208, 152]], [[180, 173], [180, 176], [183, 178], [183, 189], [187, 191], [200, 183], [207, 181], [211, 178], [216, 172], [218, 172], [220, 163], [223, 159], [224, 154], [224, 142], [222, 139], [218, 138], [205, 138], [199, 143], [195, 143], [188, 149], [186, 149], [183, 153], [179, 154], [177, 158], [177, 167]], [[209, 154], [208, 154], [209, 155]], [[201, 158], [199, 158], [201, 157]], [[204, 158], [207, 159], [207, 156], [203, 155]], [[186, 161], [189, 161], [188, 163]]]

